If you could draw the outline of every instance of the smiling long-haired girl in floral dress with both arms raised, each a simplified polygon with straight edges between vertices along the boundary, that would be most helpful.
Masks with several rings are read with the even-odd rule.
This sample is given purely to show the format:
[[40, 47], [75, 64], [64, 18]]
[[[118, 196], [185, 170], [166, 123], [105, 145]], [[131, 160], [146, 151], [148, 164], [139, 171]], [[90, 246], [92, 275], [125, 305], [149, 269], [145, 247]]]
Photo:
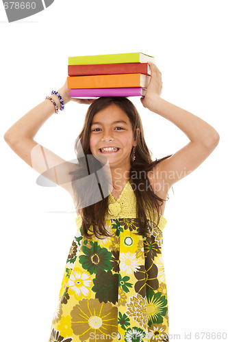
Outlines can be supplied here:
[[127, 98], [77, 100], [66, 83], [58, 91], [62, 100], [51, 95], [55, 107], [60, 101], [91, 103], [75, 142], [77, 163], [34, 141], [55, 112], [49, 98], [5, 133], [19, 157], [71, 194], [78, 214], [49, 342], [168, 341], [161, 275], [166, 198], [174, 183], [212, 153], [219, 135], [161, 98], [162, 74], [149, 65], [151, 81], [142, 105], [173, 122], [190, 140], [174, 155], [152, 161], [140, 116]]

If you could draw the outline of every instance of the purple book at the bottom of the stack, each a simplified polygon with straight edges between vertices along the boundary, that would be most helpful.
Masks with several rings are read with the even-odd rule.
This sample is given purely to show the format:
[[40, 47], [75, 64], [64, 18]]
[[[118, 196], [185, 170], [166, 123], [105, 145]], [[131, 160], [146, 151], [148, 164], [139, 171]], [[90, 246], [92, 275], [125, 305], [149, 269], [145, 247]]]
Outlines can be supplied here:
[[75, 98], [96, 98], [101, 96], [145, 96], [145, 88], [96, 88], [71, 89], [70, 95]]

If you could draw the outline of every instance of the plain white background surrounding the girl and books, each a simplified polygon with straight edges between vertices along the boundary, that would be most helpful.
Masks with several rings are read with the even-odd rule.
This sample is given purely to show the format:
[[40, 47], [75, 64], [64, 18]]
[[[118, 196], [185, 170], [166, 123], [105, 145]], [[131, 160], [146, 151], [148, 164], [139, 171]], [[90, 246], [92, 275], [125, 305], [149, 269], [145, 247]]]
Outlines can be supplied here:
[[[166, 203], [170, 341], [184, 341], [185, 334], [195, 341], [195, 332], [227, 332], [228, 340], [226, 7], [227, 1], [219, 0], [55, 0], [39, 14], [7, 23], [0, 4], [2, 341], [49, 338], [76, 228], [71, 196], [60, 187], [38, 186], [38, 173], [3, 135], [63, 85], [68, 56], [138, 51], [155, 56], [161, 97], [207, 121], [220, 135], [212, 155], [173, 186]], [[188, 143], [172, 122], [144, 109], [139, 98], [132, 102], [153, 157]], [[86, 109], [69, 103], [34, 139], [64, 159], [75, 159]], [[200, 335], [200, 341], [205, 339]]]

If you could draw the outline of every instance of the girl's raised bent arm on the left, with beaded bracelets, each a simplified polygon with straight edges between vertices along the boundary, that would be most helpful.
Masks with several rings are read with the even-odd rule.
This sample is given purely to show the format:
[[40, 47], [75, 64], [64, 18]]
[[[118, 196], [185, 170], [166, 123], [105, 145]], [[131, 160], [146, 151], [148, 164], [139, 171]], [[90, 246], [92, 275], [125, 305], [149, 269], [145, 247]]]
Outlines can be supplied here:
[[[67, 81], [64, 86], [58, 90], [64, 105], [68, 101], [90, 104], [94, 100], [79, 100], [71, 98], [70, 90], [67, 88]], [[53, 101], [60, 108], [60, 100], [55, 94], [51, 95]], [[50, 100], [46, 99], [21, 119], [16, 121], [8, 131], [5, 132], [4, 140], [12, 150], [23, 159], [31, 168], [39, 174], [45, 172], [45, 177], [53, 183], [60, 185], [72, 195], [71, 176], [69, 172], [73, 171], [74, 163], [68, 162], [55, 153], [34, 140], [34, 136], [52, 114], [55, 113], [55, 107]], [[57, 168], [58, 166], [58, 168]]]

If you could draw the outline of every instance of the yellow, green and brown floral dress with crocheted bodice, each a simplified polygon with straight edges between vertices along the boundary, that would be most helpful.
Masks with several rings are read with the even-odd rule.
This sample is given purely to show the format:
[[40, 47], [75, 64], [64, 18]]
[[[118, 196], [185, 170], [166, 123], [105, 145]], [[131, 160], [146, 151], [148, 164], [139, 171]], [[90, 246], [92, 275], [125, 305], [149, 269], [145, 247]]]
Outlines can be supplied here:
[[[105, 228], [112, 237], [86, 239], [81, 216], [66, 260], [48, 342], [168, 341], [168, 303], [158, 228], [136, 235], [131, 179], [121, 196], [108, 197]], [[92, 228], [92, 226], [90, 226]]]

